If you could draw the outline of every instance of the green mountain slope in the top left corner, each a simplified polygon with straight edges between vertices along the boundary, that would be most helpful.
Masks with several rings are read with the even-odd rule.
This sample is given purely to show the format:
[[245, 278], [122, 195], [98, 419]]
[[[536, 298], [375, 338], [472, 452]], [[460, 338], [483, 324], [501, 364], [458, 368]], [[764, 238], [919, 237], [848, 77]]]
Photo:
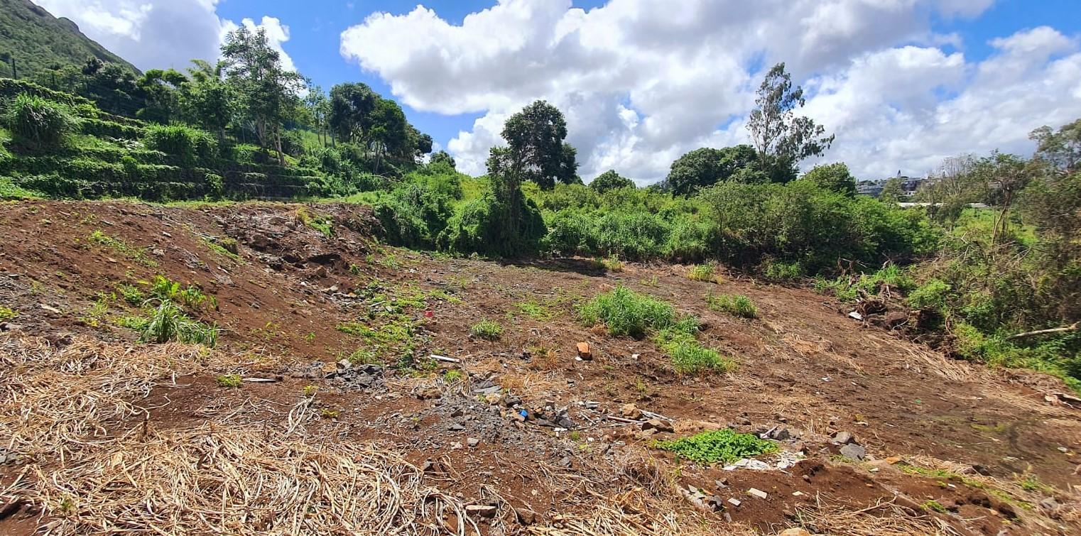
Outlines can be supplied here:
[[51, 66], [78, 66], [92, 56], [138, 71], [82, 35], [71, 21], [56, 18], [30, 0], [0, 0], [0, 77], [12, 76], [8, 57], [15, 58], [18, 78], [40, 80]]

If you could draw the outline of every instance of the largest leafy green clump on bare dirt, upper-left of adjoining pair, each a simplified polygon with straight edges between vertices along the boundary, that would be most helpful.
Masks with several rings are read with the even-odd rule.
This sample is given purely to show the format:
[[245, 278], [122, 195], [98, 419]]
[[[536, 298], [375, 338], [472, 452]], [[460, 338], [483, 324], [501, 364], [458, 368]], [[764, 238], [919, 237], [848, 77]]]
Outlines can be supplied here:
[[676, 322], [676, 310], [671, 305], [623, 285], [598, 294], [578, 312], [589, 325], [604, 324], [612, 335], [635, 338], [642, 338], [650, 330], [664, 330]]

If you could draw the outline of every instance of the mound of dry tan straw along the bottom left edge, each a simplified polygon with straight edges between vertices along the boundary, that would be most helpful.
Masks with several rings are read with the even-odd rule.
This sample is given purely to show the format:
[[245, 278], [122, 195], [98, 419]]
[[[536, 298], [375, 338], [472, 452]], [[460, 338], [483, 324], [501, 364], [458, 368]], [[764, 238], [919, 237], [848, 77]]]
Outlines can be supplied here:
[[56, 515], [45, 534], [476, 533], [461, 501], [365, 443], [204, 425], [80, 454], [23, 490]]

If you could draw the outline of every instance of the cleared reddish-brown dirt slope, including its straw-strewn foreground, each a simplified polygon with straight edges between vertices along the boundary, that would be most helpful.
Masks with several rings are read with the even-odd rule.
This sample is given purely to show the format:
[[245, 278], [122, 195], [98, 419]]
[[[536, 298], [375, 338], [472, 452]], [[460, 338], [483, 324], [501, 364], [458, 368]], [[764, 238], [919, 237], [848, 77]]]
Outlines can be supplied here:
[[[316, 229], [323, 216], [332, 220], [330, 237]], [[375, 456], [357, 448], [392, 453], [376, 458], [397, 468], [387, 473], [396, 482], [411, 483], [395, 497], [421, 513], [385, 519], [418, 533], [771, 534], [803, 526], [825, 534], [1081, 534], [1075, 493], [1081, 411], [1047, 402], [1064, 389], [1050, 378], [945, 360], [864, 327], [839, 313], [838, 304], [802, 289], [737, 274], [720, 283], [691, 281], [679, 266], [604, 272], [585, 259], [446, 258], [379, 245], [375, 225], [363, 207], [345, 204], [5, 204], [0, 305], [18, 316], [0, 332], [8, 365], [0, 375], [0, 454], [13, 459], [0, 466], [0, 485], [10, 485], [0, 532], [104, 534], [124, 526], [120, 519], [141, 531], [205, 531], [210, 525], [191, 512], [213, 494], [136, 508], [142, 502], [131, 494], [105, 485], [110, 479], [99, 468], [117, 464], [91, 460], [183, 456], [204, 437], [223, 442], [224, 451], [213, 452], [226, 452], [228, 441], [256, 441], [254, 434], [266, 443], [244, 452], [285, 464], [273, 445], [297, 441], [290, 452], [310, 448], [337, 460], [339, 472], [328, 470], [319, 488], [341, 483], [343, 459]], [[238, 255], [226, 253], [233, 249], [229, 239]], [[196, 351], [162, 364], [155, 353], [161, 347], [136, 344], [133, 331], [117, 325], [116, 319], [139, 313], [118, 284], [146, 287], [141, 281], [159, 274], [216, 296], [217, 310], [199, 313], [223, 329], [210, 357]], [[682, 377], [649, 339], [612, 337], [576, 320], [575, 306], [617, 284], [699, 317], [702, 339], [738, 367]], [[744, 294], [760, 318], [712, 311], [704, 298], [710, 293]], [[498, 339], [470, 335], [482, 319], [503, 325]], [[591, 361], [575, 359], [579, 341], [589, 343]], [[83, 437], [77, 433], [82, 425], [57, 435], [50, 420], [56, 417], [45, 411], [55, 396], [44, 393], [52, 391], [40, 391], [41, 415], [31, 418], [28, 393], [38, 391], [27, 386], [48, 377], [50, 388], [59, 388], [65, 374], [83, 374], [63, 364], [71, 359], [65, 351], [111, 363], [71, 378], [70, 392], [116, 399], [107, 414], [85, 410], [83, 421], [94, 426], [82, 432], [115, 443], [71, 446], [82, 444], [71, 442]], [[403, 353], [457, 362], [399, 362]], [[360, 364], [336, 367], [349, 356]], [[120, 370], [131, 376], [131, 363], [139, 360], [149, 361], [130, 390], [104, 379], [75, 381]], [[273, 381], [223, 388], [214, 378], [225, 373]], [[493, 391], [507, 396], [490, 404], [485, 396]], [[623, 417], [625, 404], [666, 417], [675, 431], [643, 432]], [[515, 417], [521, 410], [525, 423]], [[540, 419], [557, 428], [538, 426]], [[785, 470], [724, 470], [651, 448], [654, 439], [726, 426], [772, 431], [784, 452], [806, 459]], [[216, 435], [214, 429], [249, 433]], [[865, 448], [864, 460], [838, 454], [842, 445], [830, 438], [842, 431]], [[42, 445], [67, 445], [71, 459], [84, 463], [58, 461]], [[192, 456], [221, 467], [205, 461], [214, 459], [210, 454]], [[206, 473], [202, 478], [213, 478]], [[290, 482], [297, 479], [304, 482]], [[190, 492], [189, 481], [178, 482], [160, 494]], [[57, 486], [65, 485], [62, 493]], [[717, 495], [723, 510], [696, 508], [678, 491], [688, 485]], [[342, 486], [341, 493], [360, 493]], [[751, 487], [766, 498], [749, 496]], [[419, 490], [443, 495], [431, 502]], [[230, 505], [256, 496], [240, 494]], [[223, 513], [215, 526], [236, 522], [227, 532], [244, 534], [377, 532], [372, 520], [338, 510], [333, 497], [324, 500], [333, 513], [325, 520], [322, 509], [303, 500], [281, 500], [277, 517], [239, 522]], [[442, 513], [423, 507], [431, 504]], [[482, 512], [489, 505], [494, 511]], [[286, 521], [289, 508], [299, 513]], [[146, 513], [161, 510], [176, 513]]]

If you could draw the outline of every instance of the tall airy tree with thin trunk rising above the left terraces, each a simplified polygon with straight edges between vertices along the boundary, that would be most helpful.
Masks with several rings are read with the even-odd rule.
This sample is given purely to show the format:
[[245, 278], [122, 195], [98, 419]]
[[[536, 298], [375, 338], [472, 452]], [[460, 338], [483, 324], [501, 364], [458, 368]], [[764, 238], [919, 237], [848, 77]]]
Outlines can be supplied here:
[[246, 27], [230, 31], [222, 45], [228, 80], [241, 95], [241, 110], [251, 121], [259, 145], [272, 143], [278, 162], [285, 164], [281, 150], [282, 124], [295, 116], [304, 79], [285, 70], [278, 51], [270, 46], [263, 28]]

